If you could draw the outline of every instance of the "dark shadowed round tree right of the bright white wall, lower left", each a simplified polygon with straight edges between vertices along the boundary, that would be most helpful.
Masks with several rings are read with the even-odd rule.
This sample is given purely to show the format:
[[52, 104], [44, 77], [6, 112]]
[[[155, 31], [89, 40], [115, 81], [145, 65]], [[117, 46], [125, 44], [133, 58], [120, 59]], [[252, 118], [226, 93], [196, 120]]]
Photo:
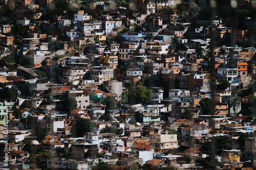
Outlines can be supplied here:
[[90, 132], [95, 125], [87, 118], [75, 119], [75, 125], [71, 128], [72, 136], [83, 137], [84, 134]]

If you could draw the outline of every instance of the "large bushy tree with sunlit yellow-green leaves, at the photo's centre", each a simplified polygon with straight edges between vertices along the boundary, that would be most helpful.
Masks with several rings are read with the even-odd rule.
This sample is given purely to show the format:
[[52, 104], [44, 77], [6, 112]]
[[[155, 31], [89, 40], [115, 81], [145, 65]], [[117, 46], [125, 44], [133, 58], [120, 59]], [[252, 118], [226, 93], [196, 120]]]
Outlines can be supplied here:
[[136, 85], [136, 87], [129, 91], [129, 103], [150, 103], [153, 97], [151, 89], [147, 89], [146, 86]]

